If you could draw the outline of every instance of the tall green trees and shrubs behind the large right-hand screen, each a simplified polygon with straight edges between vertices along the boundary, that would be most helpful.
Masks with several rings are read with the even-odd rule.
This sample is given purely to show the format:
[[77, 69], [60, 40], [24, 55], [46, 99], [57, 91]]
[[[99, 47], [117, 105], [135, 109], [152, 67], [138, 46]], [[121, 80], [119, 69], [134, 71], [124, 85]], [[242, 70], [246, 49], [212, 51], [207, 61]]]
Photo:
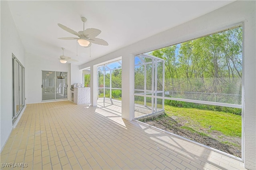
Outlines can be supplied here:
[[[195, 100], [202, 101], [208, 101], [205, 99], [208, 96], [201, 93], [217, 93], [222, 97], [217, 101], [210, 97], [210, 101], [241, 105], [242, 27], [158, 49], [150, 54], [165, 60], [166, 91], [196, 92]], [[135, 73], [143, 71], [144, 68], [137, 68]], [[135, 87], [138, 85], [141, 89], [144, 87], [142, 73], [135, 79]], [[188, 99], [188, 96], [172, 97]]]

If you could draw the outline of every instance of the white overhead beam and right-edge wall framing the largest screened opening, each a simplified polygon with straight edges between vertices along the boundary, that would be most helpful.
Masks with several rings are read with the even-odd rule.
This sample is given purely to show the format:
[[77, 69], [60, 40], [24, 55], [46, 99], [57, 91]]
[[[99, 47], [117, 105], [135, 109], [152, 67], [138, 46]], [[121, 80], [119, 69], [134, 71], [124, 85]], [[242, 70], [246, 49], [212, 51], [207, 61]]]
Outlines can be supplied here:
[[[244, 23], [244, 164], [245, 168], [256, 169], [256, 18], [255, 1], [236, 1], [204, 16], [166, 30], [150, 38], [104, 55], [98, 59], [80, 65], [80, 69], [93, 67], [98, 63], [114, 59], [116, 57], [130, 56], [154, 49], [159, 49], [176, 43], [185, 42], [212, 34], [232, 26]], [[142, 21], [143, 22], [143, 21]], [[171, 17], [170, 21], [172, 22]], [[122, 71], [124, 76], [130, 73]], [[123, 77], [123, 75], [122, 75]], [[92, 77], [91, 77], [92, 80]], [[127, 82], [129, 83], [129, 82]], [[122, 82], [123, 84], [123, 82]], [[93, 85], [91, 83], [91, 85]], [[126, 87], [127, 89], [128, 87]], [[125, 90], [125, 89], [123, 89]], [[128, 94], [128, 93], [125, 93]], [[91, 101], [95, 95], [91, 93]], [[127, 96], [122, 96], [122, 98]], [[127, 111], [129, 112], [129, 111]], [[131, 113], [131, 112], [130, 112]]]

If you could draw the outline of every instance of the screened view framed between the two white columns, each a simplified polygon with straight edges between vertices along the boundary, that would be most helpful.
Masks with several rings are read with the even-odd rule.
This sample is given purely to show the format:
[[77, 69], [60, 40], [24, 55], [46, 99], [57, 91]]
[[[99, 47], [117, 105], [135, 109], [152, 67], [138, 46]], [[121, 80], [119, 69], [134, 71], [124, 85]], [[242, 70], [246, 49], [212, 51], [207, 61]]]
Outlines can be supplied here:
[[98, 66], [98, 98], [122, 99], [122, 60]]

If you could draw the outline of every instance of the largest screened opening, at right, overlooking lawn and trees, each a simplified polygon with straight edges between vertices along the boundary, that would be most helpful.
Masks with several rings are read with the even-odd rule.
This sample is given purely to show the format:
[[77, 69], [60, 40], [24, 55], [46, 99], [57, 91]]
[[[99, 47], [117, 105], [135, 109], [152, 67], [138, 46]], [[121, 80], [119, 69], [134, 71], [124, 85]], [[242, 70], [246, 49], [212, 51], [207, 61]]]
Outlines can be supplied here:
[[[139, 120], [242, 158], [242, 30], [236, 26], [137, 55], [135, 118], [158, 112], [164, 99], [164, 117]], [[164, 59], [164, 68], [148, 54]]]

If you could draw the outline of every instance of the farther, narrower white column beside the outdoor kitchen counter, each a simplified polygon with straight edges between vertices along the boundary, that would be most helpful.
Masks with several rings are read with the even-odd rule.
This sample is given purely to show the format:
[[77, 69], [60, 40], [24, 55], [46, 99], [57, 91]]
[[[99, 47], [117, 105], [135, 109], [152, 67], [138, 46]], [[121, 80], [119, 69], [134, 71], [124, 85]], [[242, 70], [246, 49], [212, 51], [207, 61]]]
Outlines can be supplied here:
[[97, 106], [97, 90], [98, 90], [98, 84], [97, 84], [97, 66], [96, 65], [91, 65], [91, 82], [90, 82], [90, 89], [91, 89], [91, 105], [92, 106]]

